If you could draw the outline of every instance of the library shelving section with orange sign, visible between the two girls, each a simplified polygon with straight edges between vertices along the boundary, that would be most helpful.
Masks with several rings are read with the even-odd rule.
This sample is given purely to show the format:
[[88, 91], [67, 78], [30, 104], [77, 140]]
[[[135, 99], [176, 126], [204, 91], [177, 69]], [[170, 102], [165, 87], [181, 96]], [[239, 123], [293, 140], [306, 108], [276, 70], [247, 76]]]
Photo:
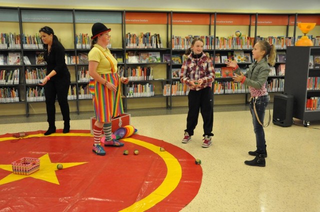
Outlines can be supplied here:
[[[242, 72], [252, 63], [254, 37], [251, 36], [251, 13], [215, 13], [211, 16], [213, 24], [213, 55], [215, 69], [214, 94], [245, 94], [248, 89], [244, 84], [233, 82], [232, 69], [226, 67], [226, 59], [235, 59]], [[237, 31], [237, 35], [235, 32]], [[240, 34], [241, 33], [241, 34]], [[246, 102], [246, 100], [245, 100]]]

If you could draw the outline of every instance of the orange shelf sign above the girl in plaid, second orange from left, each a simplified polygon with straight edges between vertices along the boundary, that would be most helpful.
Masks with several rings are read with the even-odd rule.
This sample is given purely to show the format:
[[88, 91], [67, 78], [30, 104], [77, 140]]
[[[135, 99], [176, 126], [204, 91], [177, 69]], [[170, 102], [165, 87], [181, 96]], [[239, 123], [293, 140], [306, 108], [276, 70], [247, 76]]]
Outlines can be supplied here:
[[[170, 21], [170, 17], [169, 17]], [[202, 13], [173, 13], [172, 24], [185, 25], [208, 25], [210, 24], [210, 15]]]

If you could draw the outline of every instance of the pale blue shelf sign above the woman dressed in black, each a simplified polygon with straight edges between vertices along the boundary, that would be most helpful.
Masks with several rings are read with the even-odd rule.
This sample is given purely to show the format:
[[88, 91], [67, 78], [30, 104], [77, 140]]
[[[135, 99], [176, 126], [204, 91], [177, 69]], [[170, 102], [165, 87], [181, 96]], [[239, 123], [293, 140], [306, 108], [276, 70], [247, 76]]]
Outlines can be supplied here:
[[21, 10], [22, 22], [72, 23], [72, 11]]

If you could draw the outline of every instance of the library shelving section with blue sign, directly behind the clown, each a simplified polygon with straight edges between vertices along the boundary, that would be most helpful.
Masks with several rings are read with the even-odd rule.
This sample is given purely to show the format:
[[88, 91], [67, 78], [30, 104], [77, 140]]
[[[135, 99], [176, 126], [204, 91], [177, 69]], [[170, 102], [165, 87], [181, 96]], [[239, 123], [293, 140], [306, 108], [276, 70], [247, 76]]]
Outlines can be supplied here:
[[[75, 79], [76, 79], [76, 103], [77, 111], [92, 110], [92, 96], [88, 91], [90, 76], [88, 75], [87, 54], [91, 47], [91, 27], [95, 22], [102, 22], [110, 31], [110, 43], [108, 48], [117, 58], [117, 68], [123, 67], [123, 11], [119, 10], [74, 10], [74, 55]], [[82, 94], [84, 93], [84, 95]]]

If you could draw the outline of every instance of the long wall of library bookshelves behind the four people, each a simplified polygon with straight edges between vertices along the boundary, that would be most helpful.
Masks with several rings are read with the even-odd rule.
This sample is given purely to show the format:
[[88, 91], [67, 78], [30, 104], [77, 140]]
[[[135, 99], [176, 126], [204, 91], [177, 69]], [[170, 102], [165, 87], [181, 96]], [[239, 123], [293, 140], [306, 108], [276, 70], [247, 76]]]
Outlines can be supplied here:
[[[45, 15], [44, 15], [45, 14]], [[267, 18], [282, 19], [279, 24], [259, 24], [259, 21], [268, 22]], [[255, 20], [258, 21], [255, 21]], [[172, 77], [172, 70], [181, 67], [181, 63], [173, 63], [176, 55], [182, 55], [185, 49], [172, 46], [172, 36], [185, 38], [191, 35], [203, 35], [208, 39], [205, 52], [208, 52], [212, 58], [216, 55], [228, 56], [233, 54], [235, 50], [241, 50], [245, 54], [251, 56], [251, 48], [246, 46], [227, 46], [221, 47], [219, 42], [221, 37], [228, 40], [229, 37], [237, 39], [234, 35], [236, 30], [245, 34], [246, 37], [252, 37], [255, 41], [257, 37], [269, 37], [277, 35], [284, 35], [292, 37], [293, 40], [301, 34], [299, 29], [295, 26], [296, 22], [317, 22], [315, 28], [311, 31], [313, 37], [320, 34], [320, 13], [285, 13], [285, 14], [272, 14], [272, 13], [228, 13], [228, 12], [190, 12], [190, 11], [136, 11], [136, 10], [90, 10], [90, 9], [50, 9], [50, 8], [20, 8], [20, 7], [0, 7], [0, 33], [12, 33], [18, 35], [20, 40], [23, 41], [24, 36], [34, 37], [38, 34], [38, 29], [44, 25], [52, 27], [55, 34], [60, 39], [61, 43], [66, 49], [68, 58], [72, 60], [78, 57], [79, 60], [72, 63], [67, 63], [68, 69], [71, 73], [71, 87], [72, 91], [69, 96], [70, 111], [92, 111], [92, 102], [89, 95], [86, 95], [87, 89], [87, 76], [85, 71], [88, 64], [80, 59], [82, 54], [87, 54], [89, 51], [89, 43], [79, 45], [79, 37], [89, 38], [91, 36], [91, 26], [94, 22], [105, 23], [111, 30], [111, 46], [110, 50], [116, 57], [123, 58], [118, 62], [118, 68], [123, 68], [124, 76], [128, 75], [128, 71], [136, 68], [152, 68], [152, 79], [148, 78], [135, 78], [130, 80], [129, 85], [136, 85], [144, 90], [145, 85], [152, 84], [154, 87], [154, 95], [135, 95], [130, 96], [130, 87], [122, 86], [122, 100], [124, 109], [135, 108], [151, 108], [151, 107], [166, 107], [172, 106], [186, 106], [186, 90], [181, 88], [179, 79]], [[147, 34], [159, 34], [161, 37], [161, 47], [143, 47], [128, 46], [126, 45], [126, 35], [140, 34], [143, 32]], [[276, 34], [269, 34], [270, 32]], [[233, 38], [232, 38], [233, 35]], [[241, 38], [241, 37], [240, 37]], [[238, 38], [238, 39], [240, 39]], [[86, 39], [87, 41], [89, 39]], [[239, 40], [238, 40], [239, 41]], [[242, 40], [241, 40], [242, 41]], [[187, 44], [187, 42], [185, 42]], [[293, 41], [294, 43], [294, 41]], [[16, 93], [18, 99], [11, 102], [0, 102], [0, 115], [8, 114], [30, 114], [45, 113], [44, 100], [29, 98], [28, 93], [36, 91], [41, 94], [41, 90], [36, 87], [36, 82], [26, 81], [25, 71], [35, 70], [37, 72], [43, 71], [43, 64], [36, 64], [35, 55], [38, 51], [43, 51], [42, 46], [27, 47], [22, 45], [16, 49], [1, 48], [0, 55], [7, 56], [9, 52], [18, 52], [23, 56], [27, 56], [31, 64], [8, 65], [0, 64], [2, 70], [19, 69], [18, 84], [0, 83], [0, 88], [9, 90], [9, 93]], [[173, 43], [174, 44], [174, 43]], [[186, 47], [186, 46], [184, 46]], [[160, 62], [128, 62], [125, 56], [130, 51], [141, 53], [159, 53]], [[278, 52], [286, 52], [286, 48], [278, 48]], [[164, 61], [163, 58], [170, 59], [171, 61]], [[221, 60], [221, 58], [220, 58]], [[1, 61], [1, 57], [0, 57]], [[23, 59], [21, 60], [23, 61]], [[214, 60], [213, 60], [214, 61]], [[182, 58], [181, 58], [182, 62]], [[240, 62], [241, 68], [246, 68], [250, 61]], [[276, 65], [284, 64], [284, 62], [277, 62]], [[219, 68], [225, 66], [223, 62], [214, 62], [214, 66]], [[27, 72], [28, 72], [27, 71]], [[84, 74], [84, 76], [82, 76]], [[82, 76], [82, 77], [81, 77]], [[282, 80], [283, 75], [269, 76], [269, 84], [278, 84]], [[223, 87], [232, 87], [232, 80], [230, 77], [216, 78], [215, 83], [222, 83]], [[269, 85], [270, 87], [273, 87]], [[180, 87], [182, 90], [176, 90]], [[150, 90], [150, 87], [146, 90]], [[281, 91], [278, 88], [272, 91]], [[269, 90], [269, 92], [272, 92]], [[247, 99], [247, 89], [240, 87], [235, 91], [228, 89], [220, 94], [215, 93], [215, 104], [222, 103], [245, 103]], [[233, 94], [231, 97], [229, 94]], [[183, 97], [184, 96], [184, 97]], [[243, 101], [243, 96], [245, 100]], [[232, 98], [230, 100], [230, 98]], [[1, 98], [3, 100], [3, 98]], [[14, 105], [12, 107], [12, 105]], [[13, 108], [13, 109], [12, 109]], [[58, 109], [58, 106], [57, 106]], [[58, 111], [58, 110], [57, 110]]]

